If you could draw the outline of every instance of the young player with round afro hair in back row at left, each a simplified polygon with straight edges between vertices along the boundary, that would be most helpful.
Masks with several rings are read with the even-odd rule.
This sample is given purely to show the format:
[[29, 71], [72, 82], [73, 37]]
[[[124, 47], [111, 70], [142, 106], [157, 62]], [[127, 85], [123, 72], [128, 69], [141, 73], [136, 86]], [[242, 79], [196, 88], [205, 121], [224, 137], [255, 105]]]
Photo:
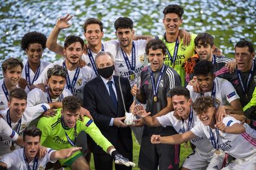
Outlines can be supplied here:
[[20, 42], [22, 50], [25, 51], [28, 57], [23, 62], [25, 68], [22, 70], [22, 78], [26, 79], [28, 89], [30, 89], [30, 86], [40, 76], [45, 67], [49, 65], [49, 62], [41, 60], [46, 47], [46, 40], [45, 34], [33, 31], [24, 34]]

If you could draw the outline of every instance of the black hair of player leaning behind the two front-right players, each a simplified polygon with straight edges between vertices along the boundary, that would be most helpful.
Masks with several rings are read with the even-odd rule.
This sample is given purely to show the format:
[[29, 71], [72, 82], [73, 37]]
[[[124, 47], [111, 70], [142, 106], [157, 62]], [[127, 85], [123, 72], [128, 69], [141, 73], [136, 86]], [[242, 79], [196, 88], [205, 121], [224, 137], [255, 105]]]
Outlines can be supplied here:
[[194, 67], [194, 75], [199, 76], [207, 76], [208, 74], [213, 74], [213, 63], [208, 60], [200, 60], [195, 64]]

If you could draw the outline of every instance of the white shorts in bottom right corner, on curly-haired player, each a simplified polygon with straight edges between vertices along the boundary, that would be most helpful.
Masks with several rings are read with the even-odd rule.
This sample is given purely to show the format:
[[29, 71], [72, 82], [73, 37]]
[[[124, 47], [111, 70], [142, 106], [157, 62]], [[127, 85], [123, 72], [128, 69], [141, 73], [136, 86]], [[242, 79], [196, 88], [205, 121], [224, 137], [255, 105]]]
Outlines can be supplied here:
[[249, 156], [248, 158], [245, 159], [236, 159], [229, 163], [226, 167], [223, 169], [228, 170], [240, 170], [240, 169], [256, 169], [256, 153], [252, 156]]

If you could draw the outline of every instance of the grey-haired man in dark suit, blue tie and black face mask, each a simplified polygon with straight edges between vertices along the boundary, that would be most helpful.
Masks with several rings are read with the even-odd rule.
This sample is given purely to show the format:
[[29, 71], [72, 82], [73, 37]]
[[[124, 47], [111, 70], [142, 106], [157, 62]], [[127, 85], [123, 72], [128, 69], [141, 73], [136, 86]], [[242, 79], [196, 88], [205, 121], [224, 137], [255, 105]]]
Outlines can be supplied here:
[[[122, 103], [119, 77], [113, 75], [114, 60], [109, 52], [99, 52], [95, 57], [98, 76], [89, 81], [83, 91], [83, 106], [93, 116], [101, 133], [123, 156], [132, 160], [132, 135], [130, 127], [124, 124], [125, 110]], [[126, 110], [133, 102], [128, 79], [120, 78]], [[92, 142], [95, 169], [113, 169], [113, 158]], [[116, 169], [131, 169], [115, 165]]]

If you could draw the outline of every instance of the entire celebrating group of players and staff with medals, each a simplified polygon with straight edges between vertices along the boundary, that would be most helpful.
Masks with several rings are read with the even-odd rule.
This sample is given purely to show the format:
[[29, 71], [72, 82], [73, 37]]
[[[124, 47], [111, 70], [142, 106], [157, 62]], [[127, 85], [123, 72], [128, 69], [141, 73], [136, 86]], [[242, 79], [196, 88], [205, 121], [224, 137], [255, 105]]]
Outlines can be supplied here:
[[[184, 10], [163, 10], [165, 33], [135, 35], [133, 21], [114, 22], [116, 38], [102, 42], [103, 23], [83, 24], [88, 44], [69, 35], [72, 15], [46, 38], [21, 40], [27, 60], [2, 63], [0, 169], [179, 169], [180, 144], [192, 153], [181, 169], [256, 168], [256, 63], [252, 42], [224, 57], [211, 34], [181, 29]], [[220, 46], [220, 44], [218, 44]], [[41, 57], [45, 48], [63, 57]], [[131, 114], [132, 113], [132, 114]], [[130, 116], [132, 115], [132, 116]], [[131, 131], [132, 130], [132, 131]]]

